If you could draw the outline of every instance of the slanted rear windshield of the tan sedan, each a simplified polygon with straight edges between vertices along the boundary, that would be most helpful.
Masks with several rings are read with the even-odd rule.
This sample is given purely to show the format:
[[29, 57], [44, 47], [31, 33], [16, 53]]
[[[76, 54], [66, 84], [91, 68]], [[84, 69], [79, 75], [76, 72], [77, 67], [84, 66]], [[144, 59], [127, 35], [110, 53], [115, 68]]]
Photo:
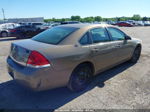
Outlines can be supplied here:
[[56, 45], [76, 30], [73, 27], [54, 27], [34, 36], [32, 40]]

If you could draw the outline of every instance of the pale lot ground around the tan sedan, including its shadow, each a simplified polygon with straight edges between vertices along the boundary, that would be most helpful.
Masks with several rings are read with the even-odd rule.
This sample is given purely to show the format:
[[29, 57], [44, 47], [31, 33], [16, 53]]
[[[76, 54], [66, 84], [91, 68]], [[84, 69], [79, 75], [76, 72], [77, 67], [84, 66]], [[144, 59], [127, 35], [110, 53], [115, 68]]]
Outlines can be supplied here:
[[124, 63], [94, 78], [85, 91], [66, 88], [32, 92], [16, 84], [6, 70], [10, 43], [0, 38], [0, 109], [150, 109], [150, 27], [121, 28], [143, 41], [135, 65]]

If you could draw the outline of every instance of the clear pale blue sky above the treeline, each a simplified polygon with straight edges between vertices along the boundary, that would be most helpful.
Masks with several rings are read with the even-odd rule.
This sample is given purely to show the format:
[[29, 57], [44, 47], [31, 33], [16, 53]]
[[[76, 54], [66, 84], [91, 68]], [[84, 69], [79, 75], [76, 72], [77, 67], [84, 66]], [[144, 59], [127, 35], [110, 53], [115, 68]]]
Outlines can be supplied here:
[[0, 19], [2, 8], [6, 18], [150, 17], [150, 0], [0, 0]]

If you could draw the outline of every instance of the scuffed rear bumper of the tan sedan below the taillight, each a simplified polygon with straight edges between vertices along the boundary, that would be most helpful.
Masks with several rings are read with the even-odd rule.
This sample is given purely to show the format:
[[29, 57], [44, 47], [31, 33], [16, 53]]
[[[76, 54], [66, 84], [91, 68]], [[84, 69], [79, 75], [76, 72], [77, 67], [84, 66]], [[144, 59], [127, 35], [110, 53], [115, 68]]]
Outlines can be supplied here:
[[52, 67], [32, 68], [24, 67], [7, 58], [9, 75], [19, 83], [37, 91], [66, 86], [69, 70], [56, 71]]

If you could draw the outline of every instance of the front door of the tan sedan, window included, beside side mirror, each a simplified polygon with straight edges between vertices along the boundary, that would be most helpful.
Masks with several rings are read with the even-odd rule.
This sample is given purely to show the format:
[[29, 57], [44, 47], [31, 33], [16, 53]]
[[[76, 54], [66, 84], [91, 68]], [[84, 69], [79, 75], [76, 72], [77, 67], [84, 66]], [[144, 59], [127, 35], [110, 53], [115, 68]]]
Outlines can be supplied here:
[[115, 49], [116, 63], [129, 59], [132, 55], [131, 40], [126, 39], [126, 34], [114, 27], [107, 27], [112, 38], [112, 44]]

